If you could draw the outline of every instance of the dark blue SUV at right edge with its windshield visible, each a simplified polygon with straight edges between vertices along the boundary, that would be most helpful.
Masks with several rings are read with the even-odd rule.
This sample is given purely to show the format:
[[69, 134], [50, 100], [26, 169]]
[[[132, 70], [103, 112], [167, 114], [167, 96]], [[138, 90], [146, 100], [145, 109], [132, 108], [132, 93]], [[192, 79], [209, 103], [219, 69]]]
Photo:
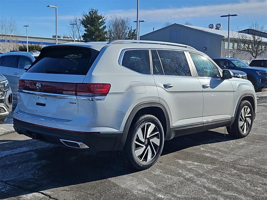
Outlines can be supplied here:
[[252, 82], [255, 89], [262, 89], [267, 86], [267, 69], [262, 67], [250, 67], [243, 61], [236, 58], [212, 58], [221, 69], [243, 71], [247, 74], [248, 80]]

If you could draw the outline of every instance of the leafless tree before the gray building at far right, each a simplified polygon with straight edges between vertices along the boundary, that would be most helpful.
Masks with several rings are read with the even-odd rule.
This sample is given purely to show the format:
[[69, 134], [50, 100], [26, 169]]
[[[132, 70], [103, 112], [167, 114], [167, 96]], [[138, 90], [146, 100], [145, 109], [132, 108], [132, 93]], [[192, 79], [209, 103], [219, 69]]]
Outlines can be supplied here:
[[238, 36], [234, 37], [234, 41], [238, 44], [237, 52], [245, 51], [251, 54], [253, 58], [257, 58], [267, 51], [267, 42], [263, 37], [264, 33], [261, 33], [264, 32], [264, 26], [260, 26], [256, 22], [252, 23], [249, 29], [252, 29], [250, 34], [238, 33]]

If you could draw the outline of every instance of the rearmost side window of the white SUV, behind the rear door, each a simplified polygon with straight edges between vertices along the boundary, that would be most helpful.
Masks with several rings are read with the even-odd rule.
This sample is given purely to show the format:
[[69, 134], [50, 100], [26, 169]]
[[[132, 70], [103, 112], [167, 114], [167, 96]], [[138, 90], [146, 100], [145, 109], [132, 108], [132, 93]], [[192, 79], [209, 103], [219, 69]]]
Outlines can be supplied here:
[[148, 50], [125, 51], [121, 65], [142, 74], [150, 74], [150, 58]]

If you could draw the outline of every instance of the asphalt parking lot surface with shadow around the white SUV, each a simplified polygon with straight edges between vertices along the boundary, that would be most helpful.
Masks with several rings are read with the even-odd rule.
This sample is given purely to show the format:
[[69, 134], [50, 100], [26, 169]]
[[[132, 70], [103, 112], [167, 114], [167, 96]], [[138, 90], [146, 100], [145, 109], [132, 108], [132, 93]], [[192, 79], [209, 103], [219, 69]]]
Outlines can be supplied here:
[[145, 171], [117, 152], [54, 146], [10, 126], [0, 125], [1, 199], [267, 199], [266, 95], [246, 138], [224, 128], [176, 137]]

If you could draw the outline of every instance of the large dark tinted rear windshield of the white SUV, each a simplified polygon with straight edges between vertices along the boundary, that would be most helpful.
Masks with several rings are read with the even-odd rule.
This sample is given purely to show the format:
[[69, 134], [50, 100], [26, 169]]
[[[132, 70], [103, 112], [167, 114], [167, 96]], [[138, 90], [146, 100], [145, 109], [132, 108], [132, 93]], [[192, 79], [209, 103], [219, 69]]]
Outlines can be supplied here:
[[27, 72], [86, 75], [98, 54], [88, 47], [46, 47]]

